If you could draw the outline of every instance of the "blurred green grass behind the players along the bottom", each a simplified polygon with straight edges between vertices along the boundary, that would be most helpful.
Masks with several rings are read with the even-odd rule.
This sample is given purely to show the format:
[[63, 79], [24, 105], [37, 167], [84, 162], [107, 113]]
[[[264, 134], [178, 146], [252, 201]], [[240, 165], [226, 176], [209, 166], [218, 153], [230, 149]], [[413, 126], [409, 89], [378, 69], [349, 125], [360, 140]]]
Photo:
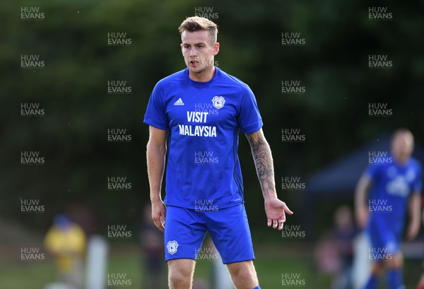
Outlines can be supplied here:
[[[312, 266], [312, 253], [305, 251], [299, 254], [298, 250], [298, 247], [290, 249], [290, 247], [285, 246], [284, 249], [278, 249], [278, 247], [266, 247], [264, 245], [257, 249], [255, 266], [261, 282], [261, 288], [296, 288], [288, 285], [283, 286], [281, 274], [299, 273], [300, 278], [305, 280], [305, 286], [302, 288], [329, 289], [331, 278], [329, 276], [320, 276], [316, 273]], [[420, 270], [419, 262], [406, 261], [404, 273], [406, 288], [414, 288], [418, 281]], [[127, 278], [131, 278], [131, 286], [125, 288], [141, 288], [143, 272], [140, 252], [134, 246], [131, 246], [130, 249], [124, 249], [124, 247], [112, 249], [107, 272], [126, 273]], [[27, 263], [0, 261], [1, 288], [42, 289], [47, 283], [54, 282], [55, 278], [54, 263], [51, 259]], [[198, 261], [194, 278], [210, 280], [211, 261]], [[380, 288], [384, 287], [381, 286]]]

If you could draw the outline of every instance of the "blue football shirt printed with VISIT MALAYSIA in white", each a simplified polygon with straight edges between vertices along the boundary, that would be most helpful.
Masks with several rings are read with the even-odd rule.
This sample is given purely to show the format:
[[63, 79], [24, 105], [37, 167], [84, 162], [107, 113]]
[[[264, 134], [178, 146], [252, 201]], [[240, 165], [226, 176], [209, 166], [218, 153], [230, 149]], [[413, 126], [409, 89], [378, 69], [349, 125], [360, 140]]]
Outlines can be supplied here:
[[184, 69], [160, 80], [144, 122], [167, 130], [165, 204], [216, 211], [244, 202], [237, 155], [240, 129], [262, 127], [249, 86], [215, 68], [208, 82]]

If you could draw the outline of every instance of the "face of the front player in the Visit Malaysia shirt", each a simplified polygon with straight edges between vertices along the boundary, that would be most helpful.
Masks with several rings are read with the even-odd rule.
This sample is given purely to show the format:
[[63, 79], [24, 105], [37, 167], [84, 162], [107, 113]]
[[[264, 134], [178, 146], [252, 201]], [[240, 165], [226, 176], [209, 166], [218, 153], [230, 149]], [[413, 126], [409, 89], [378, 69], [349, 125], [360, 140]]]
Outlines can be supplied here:
[[206, 30], [184, 31], [181, 35], [184, 62], [191, 73], [201, 74], [213, 69], [213, 59], [219, 51], [219, 43], [212, 43]]

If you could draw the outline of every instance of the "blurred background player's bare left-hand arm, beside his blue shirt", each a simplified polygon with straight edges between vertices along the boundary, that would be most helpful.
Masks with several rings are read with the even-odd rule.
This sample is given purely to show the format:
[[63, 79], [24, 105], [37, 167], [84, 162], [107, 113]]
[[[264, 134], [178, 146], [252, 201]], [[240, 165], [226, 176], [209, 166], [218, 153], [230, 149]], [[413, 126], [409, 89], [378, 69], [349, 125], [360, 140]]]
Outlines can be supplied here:
[[368, 191], [371, 187], [370, 177], [363, 175], [360, 177], [355, 189], [355, 216], [360, 229], [365, 228], [368, 220]]

